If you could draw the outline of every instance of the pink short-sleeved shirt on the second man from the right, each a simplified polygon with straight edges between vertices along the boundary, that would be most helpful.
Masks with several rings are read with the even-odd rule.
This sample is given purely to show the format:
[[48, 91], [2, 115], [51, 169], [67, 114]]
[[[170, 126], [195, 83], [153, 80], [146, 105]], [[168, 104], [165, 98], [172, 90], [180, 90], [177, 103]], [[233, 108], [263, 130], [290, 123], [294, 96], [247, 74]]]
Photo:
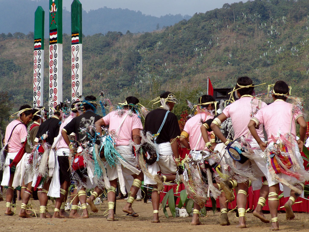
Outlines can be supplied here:
[[[265, 102], [261, 101], [259, 106], [258, 99], [253, 99], [252, 103], [251, 101], [252, 97], [242, 97], [233, 102], [231, 105], [228, 105], [223, 110], [223, 113], [225, 114], [226, 117], [231, 117], [235, 133], [234, 139], [240, 136], [247, 136], [247, 135], [248, 137], [252, 138], [252, 135], [248, 129], [248, 123], [250, 119], [255, 116], [257, 110], [267, 106]], [[260, 138], [264, 138], [263, 126], [261, 126], [256, 131]]]

